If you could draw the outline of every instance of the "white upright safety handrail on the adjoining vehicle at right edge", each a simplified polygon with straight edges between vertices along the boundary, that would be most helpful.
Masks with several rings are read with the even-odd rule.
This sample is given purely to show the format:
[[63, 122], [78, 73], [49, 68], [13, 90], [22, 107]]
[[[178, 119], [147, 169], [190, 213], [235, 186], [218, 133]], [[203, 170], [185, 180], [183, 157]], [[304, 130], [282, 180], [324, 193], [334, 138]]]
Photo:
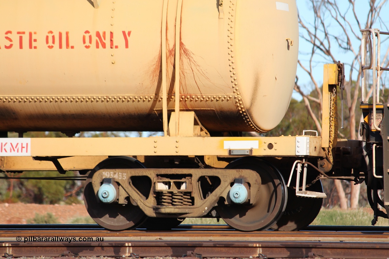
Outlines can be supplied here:
[[[365, 80], [365, 70], [373, 70], [373, 128], [380, 131], [381, 128], [376, 125], [376, 113], [377, 103], [380, 103], [380, 71], [389, 71], [389, 68], [383, 68], [380, 66], [380, 51], [381, 51], [381, 37], [380, 34], [389, 35], [389, 32], [380, 32], [379, 29], [363, 29], [361, 39], [361, 65], [362, 65], [362, 102], [366, 103], [366, 80]], [[370, 41], [370, 64], [365, 65], [366, 61], [366, 36], [373, 38], [372, 42]], [[376, 40], [377, 37], [377, 40]], [[377, 44], [376, 44], [377, 42]], [[377, 47], [376, 47], [377, 45]]]

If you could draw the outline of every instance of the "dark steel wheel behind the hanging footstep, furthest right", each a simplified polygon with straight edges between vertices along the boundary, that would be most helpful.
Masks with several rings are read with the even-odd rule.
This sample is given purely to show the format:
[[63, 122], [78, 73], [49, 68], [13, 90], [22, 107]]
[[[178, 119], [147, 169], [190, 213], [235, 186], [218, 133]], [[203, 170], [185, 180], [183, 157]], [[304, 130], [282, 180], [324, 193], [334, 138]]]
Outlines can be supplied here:
[[[323, 198], [308, 198], [296, 196], [294, 188], [288, 189], [288, 201], [286, 208], [280, 219], [273, 225], [272, 229], [280, 231], [297, 231], [305, 228], [315, 220], [323, 204]], [[320, 180], [312, 186], [307, 187], [307, 191], [323, 192]]]

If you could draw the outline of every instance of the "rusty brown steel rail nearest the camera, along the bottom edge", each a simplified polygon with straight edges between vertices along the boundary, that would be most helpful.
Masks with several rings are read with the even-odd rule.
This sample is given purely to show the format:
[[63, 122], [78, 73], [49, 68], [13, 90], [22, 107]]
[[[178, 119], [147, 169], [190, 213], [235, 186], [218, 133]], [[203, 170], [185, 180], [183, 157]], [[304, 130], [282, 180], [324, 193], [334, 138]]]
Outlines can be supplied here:
[[116, 240], [99, 243], [9, 242], [0, 247], [0, 253], [13, 257], [58, 257], [65, 254], [82, 257], [182, 257], [191, 252], [202, 257], [387, 258], [389, 242]]

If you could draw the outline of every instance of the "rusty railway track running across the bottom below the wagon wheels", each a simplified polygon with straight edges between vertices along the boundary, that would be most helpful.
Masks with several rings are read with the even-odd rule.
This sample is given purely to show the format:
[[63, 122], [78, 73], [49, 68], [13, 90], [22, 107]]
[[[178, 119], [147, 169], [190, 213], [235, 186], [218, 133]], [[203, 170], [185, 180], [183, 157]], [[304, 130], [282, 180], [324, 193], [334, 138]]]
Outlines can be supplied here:
[[183, 225], [172, 231], [112, 232], [97, 225], [71, 226], [0, 226], [0, 253], [6, 257], [135, 258], [387, 258], [389, 254], [389, 228], [382, 227], [240, 232], [225, 225]]

